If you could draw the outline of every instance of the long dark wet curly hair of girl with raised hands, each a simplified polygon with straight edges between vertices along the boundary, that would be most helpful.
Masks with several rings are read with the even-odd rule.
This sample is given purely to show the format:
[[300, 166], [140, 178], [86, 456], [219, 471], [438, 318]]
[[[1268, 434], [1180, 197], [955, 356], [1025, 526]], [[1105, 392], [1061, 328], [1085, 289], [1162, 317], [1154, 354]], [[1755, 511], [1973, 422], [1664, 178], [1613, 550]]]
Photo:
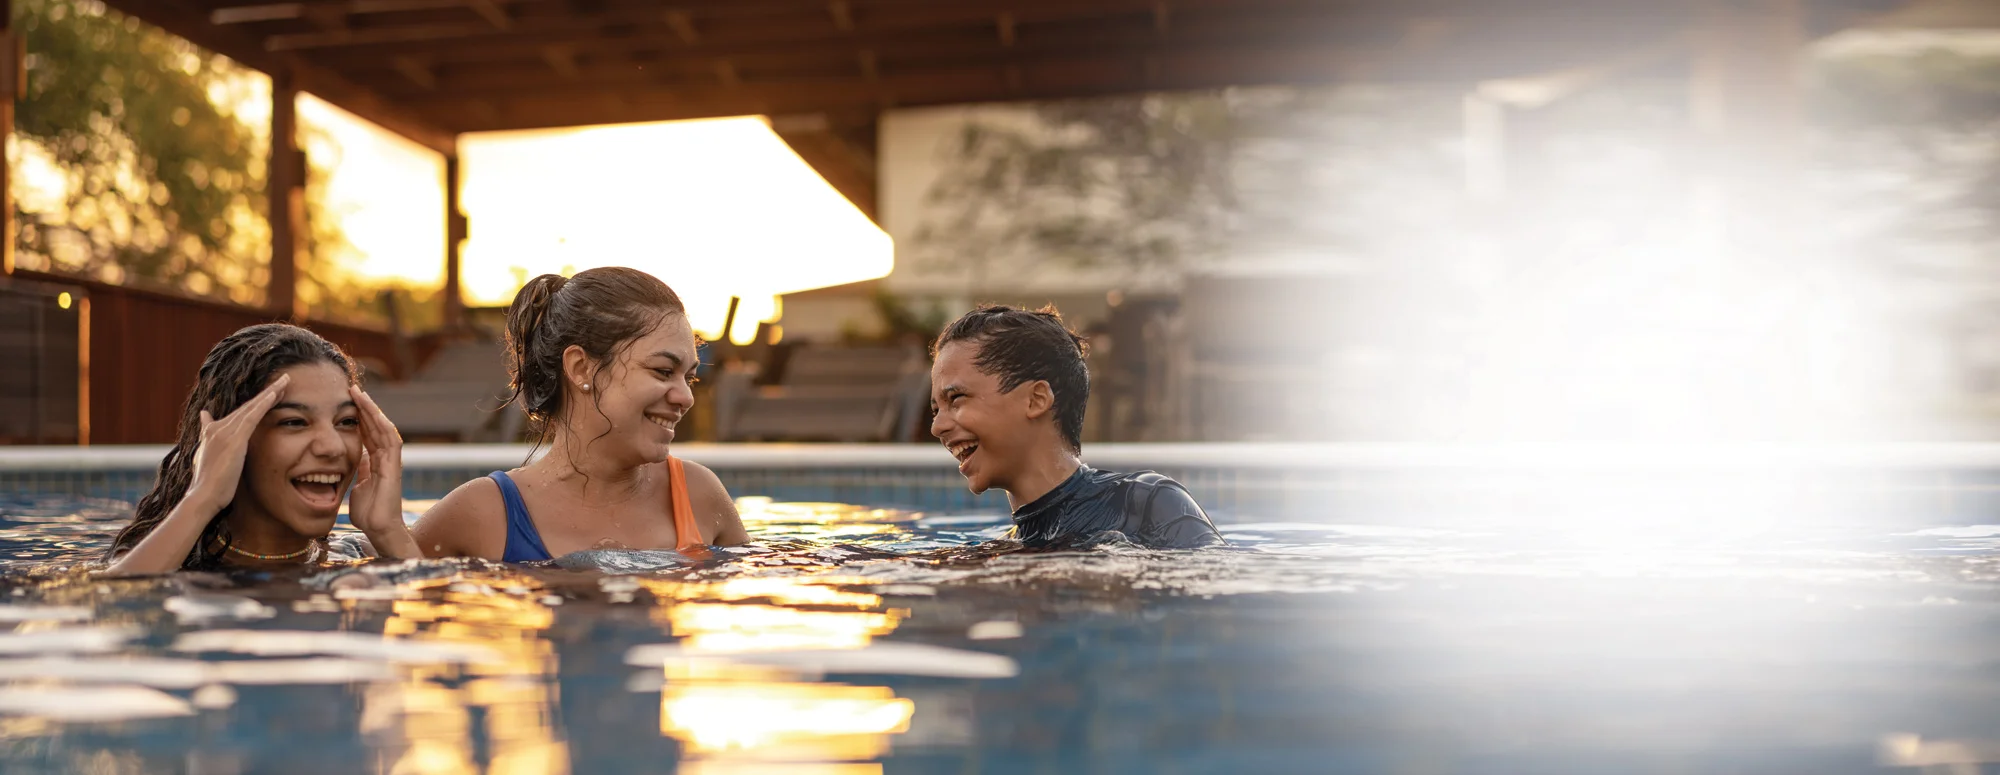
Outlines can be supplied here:
[[[194, 376], [194, 388], [188, 389], [188, 399], [180, 405], [180, 431], [174, 435], [174, 447], [160, 459], [160, 475], [132, 509], [132, 523], [112, 539], [108, 557], [136, 547], [154, 527], [160, 527], [160, 521], [180, 505], [182, 497], [188, 497], [188, 487], [194, 483], [196, 447], [202, 443], [202, 409], [208, 409], [214, 419], [228, 417], [264, 388], [270, 388], [270, 380], [278, 372], [304, 364], [332, 364], [346, 376], [348, 384], [358, 382], [354, 364], [340, 348], [298, 326], [250, 326], [208, 348], [208, 358], [202, 360], [202, 370]], [[214, 519], [208, 519], [202, 537], [180, 561], [182, 569], [222, 565], [224, 549], [220, 547], [230, 543], [226, 523], [230, 507], [222, 507]]]

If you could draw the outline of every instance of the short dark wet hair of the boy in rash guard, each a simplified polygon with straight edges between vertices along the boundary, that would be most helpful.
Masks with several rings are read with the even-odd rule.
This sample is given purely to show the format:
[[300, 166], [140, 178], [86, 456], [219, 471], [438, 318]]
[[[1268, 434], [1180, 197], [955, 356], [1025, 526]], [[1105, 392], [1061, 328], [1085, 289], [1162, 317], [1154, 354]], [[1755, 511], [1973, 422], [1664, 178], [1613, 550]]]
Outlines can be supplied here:
[[1034, 312], [980, 306], [946, 326], [930, 356], [936, 358], [952, 342], [978, 348], [972, 366], [998, 378], [1002, 393], [1028, 382], [1048, 382], [1048, 389], [1056, 393], [1056, 427], [1062, 439], [1070, 443], [1070, 451], [1084, 451], [1084, 405], [1090, 403], [1090, 368], [1084, 358], [1090, 342], [1062, 324], [1054, 304]]

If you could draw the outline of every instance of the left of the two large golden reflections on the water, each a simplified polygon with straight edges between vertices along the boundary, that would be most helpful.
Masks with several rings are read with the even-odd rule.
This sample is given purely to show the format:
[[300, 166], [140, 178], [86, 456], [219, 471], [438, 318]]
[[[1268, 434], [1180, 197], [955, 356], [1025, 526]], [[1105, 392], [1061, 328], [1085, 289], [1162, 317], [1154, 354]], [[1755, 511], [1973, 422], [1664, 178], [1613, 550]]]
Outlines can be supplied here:
[[[544, 637], [556, 615], [540, 601], [540, 585], [520, 575], [458, 575], [408, 587], [444, 593], [392, 601], [384, 635], [474, 643], [500, 659], [418, 665], [400, 683], [370, 685], [362, 733], [380, 751], [382, 771], [568, 771], [568, 747], [554, 723], [556, 653]], [[484, 735], [474, 735], [476, 723]], [[478, 737], [486, 751], [474, 745]]]

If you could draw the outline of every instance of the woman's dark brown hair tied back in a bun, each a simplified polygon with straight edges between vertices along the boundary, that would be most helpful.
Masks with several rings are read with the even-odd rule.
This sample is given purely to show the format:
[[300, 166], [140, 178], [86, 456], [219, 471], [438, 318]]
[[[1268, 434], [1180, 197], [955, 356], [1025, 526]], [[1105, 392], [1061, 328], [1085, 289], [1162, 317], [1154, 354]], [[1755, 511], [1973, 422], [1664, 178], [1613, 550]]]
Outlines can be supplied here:
[[548, 441], [562, 419], [564, 350], [572, 344], [584, 348], [598, 362], [596, 376], [602, 376], [612, 356], [632, 340], [666, 316], [686, 314], [680, 296], [660, 278], [624, 266], [528, 280], [506, 310], [508, 399], [520, 399], [540, 433], [538, 441]]

